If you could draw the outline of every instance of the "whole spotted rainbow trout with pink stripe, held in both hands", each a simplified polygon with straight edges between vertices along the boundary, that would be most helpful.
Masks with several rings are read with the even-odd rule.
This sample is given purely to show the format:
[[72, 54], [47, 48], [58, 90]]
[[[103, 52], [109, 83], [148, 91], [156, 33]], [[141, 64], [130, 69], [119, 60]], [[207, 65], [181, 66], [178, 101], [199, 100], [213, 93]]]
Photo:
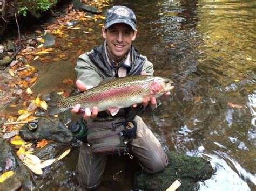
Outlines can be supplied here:
[[142, 103], [143, 98], [149, 101], [150, 97], [160, 97], [174, 88], [172, 84], [173, 81], [165, 77], [138, 75], [114, 78], [67, 98], [52, 92], [48, 101], [48, 115], [59, 114], [81, 104], [82, 108], [97, 106], [98, 111], [109, 110], [114, 116], [120, 108]]

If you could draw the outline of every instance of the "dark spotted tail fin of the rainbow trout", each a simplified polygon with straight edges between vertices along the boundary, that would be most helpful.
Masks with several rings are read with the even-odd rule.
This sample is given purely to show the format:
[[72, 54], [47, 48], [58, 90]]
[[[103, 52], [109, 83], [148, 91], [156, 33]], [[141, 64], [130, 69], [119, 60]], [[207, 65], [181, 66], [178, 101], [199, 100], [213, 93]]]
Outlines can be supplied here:
[[57, 94], [56, 92], [50, 93], [49, 99], [46, 101], [48, 115], [56, 115], [63, 112], [61, 108], [58, 108], [58, 104], [57, 104], [62, 99], [63, 99], [63, 96]]

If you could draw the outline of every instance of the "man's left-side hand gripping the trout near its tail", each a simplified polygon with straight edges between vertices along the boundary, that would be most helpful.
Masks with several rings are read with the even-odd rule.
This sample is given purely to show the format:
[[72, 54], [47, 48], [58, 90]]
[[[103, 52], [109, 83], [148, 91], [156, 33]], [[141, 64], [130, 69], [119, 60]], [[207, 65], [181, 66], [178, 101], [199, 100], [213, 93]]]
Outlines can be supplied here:
[[[76, 85], [77, 85], [77, 88], [78, 88], [81, 92], [83, 92], [83, 91], [85, 91], [85, 90], [87, 89], [86, 86], [85, 86], [85, 84], [84, 84], [82, 81], [80, 81], [80, 80], [77, 80], [77, 81], [76, 81]], [[81, 105], [80, 105], [80, 104], [77, 104], [77, 105], [75, 105], [75, 107], [71, 110], [71, 112], [72, 112], [72, 114], [78, 114], [80, 110], [81, 110]], [[90, 110], [90, 108], [85, 108], [83, 118], [84, 118], [85, 120], [88, 120], [88, 119], [90, 119], [90, 118], [95, 118], [95, 117], [97, 117], [97, 115], [98, 115], [98, 108], [97, 108], [96, 106], [92, 108], [92, 111]]]

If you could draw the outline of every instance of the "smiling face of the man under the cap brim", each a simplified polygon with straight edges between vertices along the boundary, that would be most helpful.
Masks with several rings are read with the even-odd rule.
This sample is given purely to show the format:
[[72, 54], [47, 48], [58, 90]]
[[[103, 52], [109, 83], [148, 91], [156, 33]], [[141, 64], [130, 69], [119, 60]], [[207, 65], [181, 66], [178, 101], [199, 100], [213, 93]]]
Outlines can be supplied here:
[[132, 41], [135, 40], [137, 30], [133, 32], [129, 25], [116, 23], [105, 30], [102, 27], [103, 38], [107, 42], [107, 50], [114, 61], [121, 60], [129, 50]]

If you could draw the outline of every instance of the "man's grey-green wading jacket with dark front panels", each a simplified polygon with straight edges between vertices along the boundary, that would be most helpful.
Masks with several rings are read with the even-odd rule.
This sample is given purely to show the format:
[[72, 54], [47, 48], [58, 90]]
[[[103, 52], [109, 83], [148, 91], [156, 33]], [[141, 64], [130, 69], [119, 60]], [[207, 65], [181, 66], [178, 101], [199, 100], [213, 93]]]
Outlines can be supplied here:
[[[123, 68], [126, 68], [126, 76], [140, 75], [143, 71], [145, 71], [147, 75], [153, 75], [153, 64], [148, 61], [145, 56], [138, 55], [137, 50], [133, 46], [130, 47], [129, 53], [130, 66], [123, 66]], [[102, 45], [92, 49], [90, 52], [85, 52], [80, 55], [75, 70], [77, 73], [77, 80], [81, 80], [87, 89], [98, 86], [100, 81], [108, 77], [118, 77], [115, 76], [113, 67], [108, 61], [106, 41]], [[122, 113], [121, 111], [122, 110], [120, 110], [118, 114]]]

